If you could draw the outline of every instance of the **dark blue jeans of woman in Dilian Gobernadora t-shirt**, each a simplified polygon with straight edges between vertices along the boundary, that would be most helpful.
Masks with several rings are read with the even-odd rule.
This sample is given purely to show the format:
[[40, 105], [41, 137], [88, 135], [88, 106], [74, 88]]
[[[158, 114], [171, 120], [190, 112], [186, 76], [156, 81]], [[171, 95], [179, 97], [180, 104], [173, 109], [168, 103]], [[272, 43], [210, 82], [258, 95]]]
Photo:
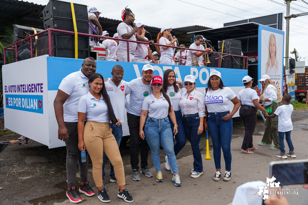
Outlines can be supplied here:
[[221, 149], [224, 154], [226, 170], [231, 170], [231, 139], [233, 131], [232, 118], [223, 120], [222, 117], [230, 113], [226, 112], [209, 112], [208, 127], [213, 142], [213, 156], [216, 169], [221, 169]]

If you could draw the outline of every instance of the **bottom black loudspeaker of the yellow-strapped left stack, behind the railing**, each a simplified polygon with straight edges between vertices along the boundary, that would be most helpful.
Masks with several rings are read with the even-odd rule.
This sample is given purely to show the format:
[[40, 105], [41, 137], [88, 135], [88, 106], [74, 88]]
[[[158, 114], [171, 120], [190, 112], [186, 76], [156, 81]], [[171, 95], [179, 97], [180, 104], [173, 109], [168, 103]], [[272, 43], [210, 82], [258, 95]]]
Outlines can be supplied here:
[[[37, 40], [37, 56], [48, 55], [48, 36]], [[51, 51], [54, 57], [75, 58], [75, 36], [54, 33], [51, 35]], [[90, 56], [89, 37], [78, 36], [78, 58]]]

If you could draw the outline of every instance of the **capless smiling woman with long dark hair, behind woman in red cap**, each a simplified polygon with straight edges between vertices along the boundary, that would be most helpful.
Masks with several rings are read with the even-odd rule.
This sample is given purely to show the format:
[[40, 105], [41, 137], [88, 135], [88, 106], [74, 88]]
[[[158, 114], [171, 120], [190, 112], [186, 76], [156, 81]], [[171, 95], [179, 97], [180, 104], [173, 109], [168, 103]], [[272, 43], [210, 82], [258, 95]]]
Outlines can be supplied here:
[[[162, 90], [167, 95], [169, 95], [172, 101], [172, 108], [175, 113], [176, 124], [178, 125], [177, 129], [179, 132], [177, 133], [177, 135], [175, 135], [176, 144], [174, 145], [174, 154], [176, 156], [186, 144], [186, 136], [185, 136], [185, 131], [183, 127], [183, 115], [182, 115], [181, 108], [179, 105], [181, 94], [185, 91], [183, 89], [180, 89], [179, 86], [176, 84], [175, 72], [172, 69], [168, 69], [164, 73], [164, 82], [163, 82]], [[169, 119], [170, 126], [172, 129], [174, 125], [169, 115], [168, 115], [168, 119]], [[171, 173], [172, 173], [172, 169], [168, 162], [168, 156], [165, 156], [165, 160], [166, 160], [166, 164], [165, 164], [166, 169], [171, 170]]]

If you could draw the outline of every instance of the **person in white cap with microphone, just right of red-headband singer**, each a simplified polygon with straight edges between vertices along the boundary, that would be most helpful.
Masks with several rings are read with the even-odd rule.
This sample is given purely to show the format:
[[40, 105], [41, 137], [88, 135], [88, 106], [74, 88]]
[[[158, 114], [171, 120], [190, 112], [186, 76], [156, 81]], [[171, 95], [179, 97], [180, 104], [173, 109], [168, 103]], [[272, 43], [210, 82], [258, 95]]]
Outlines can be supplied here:
[[[136, 27], [138, 28], [137, 34], [139, 34], [141, 37], [144, 37], [145, 32], [147, 32], [144, 29], [144, 24], [142, 23], [136, 23]], [[148, 40], [147, 37], [144, 37], [144, 39]], [[137, 43], [137, 49], [135, 53], [135, 59], [134, 62], [136, 63], [149, 63], [148, 57], [153, 59], [152, 51], [150, 49], [150, 46], [148, 44], [143, 43]]]

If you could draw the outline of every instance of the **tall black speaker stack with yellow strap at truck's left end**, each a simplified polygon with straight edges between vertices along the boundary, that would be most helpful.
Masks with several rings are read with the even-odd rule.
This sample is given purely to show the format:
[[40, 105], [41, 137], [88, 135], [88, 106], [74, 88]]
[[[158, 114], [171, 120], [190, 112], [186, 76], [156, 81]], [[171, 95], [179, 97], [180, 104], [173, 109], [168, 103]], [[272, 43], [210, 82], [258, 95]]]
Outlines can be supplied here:
[[[89, 33], [88, 9], [86, 5], [75, 4], [75, 19], [78, 33]], [[74, 23], [70, 2], [50, 0], [43, 10], [44, 28], [52, 28], [74, 32]], [[52, 32], [52, 56], [75, 58], [75, 36]], [[48, 37], [38, 39], [38, 56], [49, 54]], [[78, 36], [78, 58], [90, 56], [89, 37]]]

